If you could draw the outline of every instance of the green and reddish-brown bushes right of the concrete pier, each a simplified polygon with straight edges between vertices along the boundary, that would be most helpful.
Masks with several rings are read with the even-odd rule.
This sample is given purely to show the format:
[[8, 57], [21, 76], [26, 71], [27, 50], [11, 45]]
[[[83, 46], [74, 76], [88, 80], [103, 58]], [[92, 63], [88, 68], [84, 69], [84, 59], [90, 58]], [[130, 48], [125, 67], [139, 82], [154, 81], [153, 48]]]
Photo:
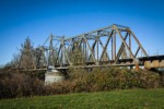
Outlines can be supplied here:
[[115, 88], [154, 88], [160, 87], [160, 75], [157, 73], [140, 70], [131, 71], [119, 68], [94, 69], [91, 72], [71, 70], [71, 76], [81, 92], [110, 90]]

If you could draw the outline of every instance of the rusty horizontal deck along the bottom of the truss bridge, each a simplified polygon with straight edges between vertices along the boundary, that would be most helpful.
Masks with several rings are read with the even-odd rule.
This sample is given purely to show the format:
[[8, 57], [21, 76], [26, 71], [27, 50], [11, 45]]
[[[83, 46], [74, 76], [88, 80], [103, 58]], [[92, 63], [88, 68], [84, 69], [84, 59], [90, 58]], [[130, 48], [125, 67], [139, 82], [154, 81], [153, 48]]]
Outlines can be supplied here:
[[[147, 69], [151, 68], [164, 68], [164, 56], [150, 56], [150, 57], [140, 57], [138, 58], [140, 66], [144, 66]], [[137, 63], [132, 62], [132, 59], [121, 59], [118, 60], [119, 64], [114, 63], [114, 61], [102, 61], [99, 64], [95, 64], [94, 62], [85, 62], [85, 64], [73, 65], [73, 68], [107, 68], [107, 66], [134, 66]], [[57, 66], [57, 70], [68, 69], [70, 65]]]

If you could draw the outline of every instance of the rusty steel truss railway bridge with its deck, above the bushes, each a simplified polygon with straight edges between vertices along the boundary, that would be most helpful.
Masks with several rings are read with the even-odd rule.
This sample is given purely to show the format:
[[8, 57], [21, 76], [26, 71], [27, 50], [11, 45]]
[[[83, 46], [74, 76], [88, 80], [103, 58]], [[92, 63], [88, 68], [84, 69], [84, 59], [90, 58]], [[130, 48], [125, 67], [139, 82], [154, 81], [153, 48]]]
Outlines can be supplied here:
[[164, 56], [149, 56], [130, 27], [116, 24], [74, 37], [50, 35], [33, 56], [35, 69], [164, 68]]

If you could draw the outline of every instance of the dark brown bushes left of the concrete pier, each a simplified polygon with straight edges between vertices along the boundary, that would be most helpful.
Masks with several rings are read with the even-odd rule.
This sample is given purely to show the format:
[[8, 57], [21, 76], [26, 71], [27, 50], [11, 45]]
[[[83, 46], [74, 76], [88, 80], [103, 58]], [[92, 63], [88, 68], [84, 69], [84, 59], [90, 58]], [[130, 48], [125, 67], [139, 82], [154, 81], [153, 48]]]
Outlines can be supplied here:
[[0, 98], [43, 95], [44, 83], [23, 73], [9, 73], [0, 80]]

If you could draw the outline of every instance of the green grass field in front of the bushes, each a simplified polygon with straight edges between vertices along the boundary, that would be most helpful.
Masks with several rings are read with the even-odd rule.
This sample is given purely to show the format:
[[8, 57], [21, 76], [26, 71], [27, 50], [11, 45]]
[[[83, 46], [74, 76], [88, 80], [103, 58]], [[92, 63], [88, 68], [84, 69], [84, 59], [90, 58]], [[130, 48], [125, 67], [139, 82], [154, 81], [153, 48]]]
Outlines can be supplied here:
[[42, 96], [0, 100], [0, 109], [164, 109], [164, 88]]

